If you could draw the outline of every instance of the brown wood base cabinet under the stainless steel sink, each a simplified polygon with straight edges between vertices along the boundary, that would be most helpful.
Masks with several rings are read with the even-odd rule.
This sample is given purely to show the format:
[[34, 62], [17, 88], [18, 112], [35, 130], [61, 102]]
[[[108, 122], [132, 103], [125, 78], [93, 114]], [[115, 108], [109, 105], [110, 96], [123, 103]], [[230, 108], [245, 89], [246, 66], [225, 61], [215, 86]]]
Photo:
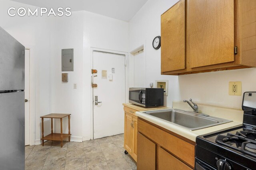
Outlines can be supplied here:
[[195, 145], [194, 141], [138, 117], [138, 169], [192, 170]]

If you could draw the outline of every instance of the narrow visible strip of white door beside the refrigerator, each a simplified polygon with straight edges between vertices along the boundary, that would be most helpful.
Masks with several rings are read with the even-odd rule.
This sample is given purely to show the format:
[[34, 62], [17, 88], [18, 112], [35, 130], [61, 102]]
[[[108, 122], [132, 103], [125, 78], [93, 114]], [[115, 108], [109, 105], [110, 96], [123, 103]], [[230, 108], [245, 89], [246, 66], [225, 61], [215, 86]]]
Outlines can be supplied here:
[[30, 51], [25, 50], [25, 145], [30, 145]]

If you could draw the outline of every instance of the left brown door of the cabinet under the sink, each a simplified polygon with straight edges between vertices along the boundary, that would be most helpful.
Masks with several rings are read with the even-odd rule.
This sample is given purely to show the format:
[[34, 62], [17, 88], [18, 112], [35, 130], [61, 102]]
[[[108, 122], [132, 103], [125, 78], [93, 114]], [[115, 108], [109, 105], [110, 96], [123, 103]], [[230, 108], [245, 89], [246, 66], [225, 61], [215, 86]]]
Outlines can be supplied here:
[[138, 133], [137, 169], [156, 169], [156, 144]]

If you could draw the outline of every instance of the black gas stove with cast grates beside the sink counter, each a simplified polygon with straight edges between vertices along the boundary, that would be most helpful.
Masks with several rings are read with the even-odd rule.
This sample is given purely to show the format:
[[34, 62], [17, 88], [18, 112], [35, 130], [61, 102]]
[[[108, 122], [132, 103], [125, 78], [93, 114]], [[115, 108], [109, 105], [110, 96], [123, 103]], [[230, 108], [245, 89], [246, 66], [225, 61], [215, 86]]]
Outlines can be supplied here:
[[245, 92], [243, 125], [196, 137], [196, 170], [256, 170], [256, 92]]

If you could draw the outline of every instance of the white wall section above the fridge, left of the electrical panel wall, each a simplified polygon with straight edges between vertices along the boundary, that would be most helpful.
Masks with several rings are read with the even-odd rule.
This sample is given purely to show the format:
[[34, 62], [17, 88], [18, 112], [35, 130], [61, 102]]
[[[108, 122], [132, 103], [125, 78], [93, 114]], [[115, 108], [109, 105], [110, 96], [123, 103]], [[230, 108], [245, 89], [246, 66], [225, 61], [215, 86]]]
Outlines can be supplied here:
[[[30, 81], [34, 83], [31, 87], [30, 94], [34, 95], [30, 98], [30, 104], [36, 107], [32, 107], [30, 110], [31, 117], [35, 119], [31, 125], [31, 143], [34, 144], [35, 139], [40, 139], [41, 126], [40, 116], [50, 112], [49, 99], [50, 99], [50, 53], [49, 25], [46, 18], [29, 18], [14, 16], [10, 17], [7, 14], [7, 10], [10, 7], [30, 7], [12, 2], [8, 0], [0, 1], [0, 26], [22, 43], [26, 48], [31, 48], [30, 53], [30, 67], [32, 76]], [[35, 95], [36, 94], [36, 95]], [[50, 132], [50, 123], [45, 121], [45, 133]]]

